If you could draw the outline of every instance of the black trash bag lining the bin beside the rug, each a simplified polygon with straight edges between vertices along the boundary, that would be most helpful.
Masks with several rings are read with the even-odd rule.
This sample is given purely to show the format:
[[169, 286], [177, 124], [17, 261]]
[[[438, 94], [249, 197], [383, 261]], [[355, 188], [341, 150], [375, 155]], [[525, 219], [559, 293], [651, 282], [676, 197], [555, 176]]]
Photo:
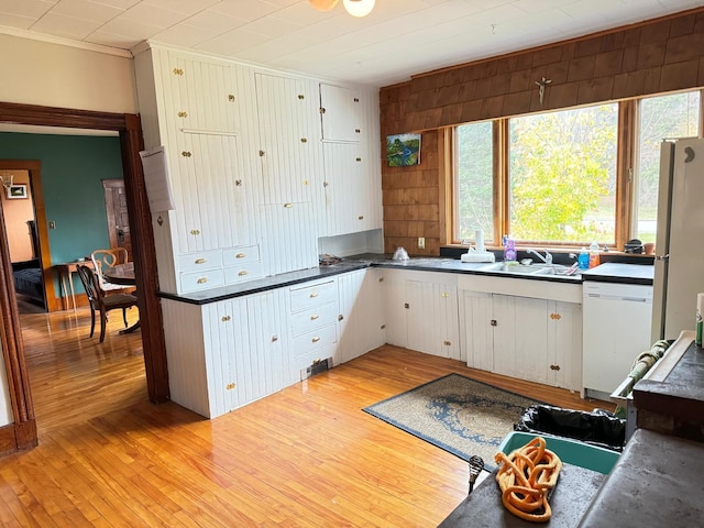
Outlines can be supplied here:
[[618, 452], [623, 451], [626, 442], [626, 420], [603, 409], [586, 413], [550, 405], [532, 405], [524, 411], [514, 429], [580, 440]]

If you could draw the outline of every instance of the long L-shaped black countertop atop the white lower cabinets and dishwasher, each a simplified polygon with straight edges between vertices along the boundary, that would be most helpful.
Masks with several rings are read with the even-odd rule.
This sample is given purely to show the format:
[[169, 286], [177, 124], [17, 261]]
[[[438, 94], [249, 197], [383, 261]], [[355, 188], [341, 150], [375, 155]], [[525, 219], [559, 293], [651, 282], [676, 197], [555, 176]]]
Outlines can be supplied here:
[[[188, 302], [193, 305], [206, 305], [210, 302], [217, 302], [219, 300], [226, 300], [233, 297], [241, 297], [244, 295], [257, 294], [261, 292], [267, 292], [275, 288], [285, 286], [292, 286], [299, 283], [306, 283], [309, 280], [323, 279], [342, 273], [353, 272], [355, 270], [364, 270], [366, 267], [386, 267], [394, 270], [417, 270], [424, 272], [443, 272], [443, 273], [458, 273], [458, 274], [481, 274], [504, 277], [506, 279], [529, 279], [529, 280], [544, 280], [544, 282], [558, 282], [568, 284], [581, 284], [582, 276], [580, 275], [520, 275], [520, 274], [507, 274], [503, 272], [487, 272], [480, 271], [480, 268], [488, 265], [488, 263], [465, 263], [453, 257], [443, 256], [428, 256], [428, 257], [411, 257], [407, 261], [394, 261], [391, 254], [383, 253], [363, 253], [359, 255], [346, 256], [342, 262], [332, 264], [329, 266], [311, 267], [309, 270], [300, 270], [297, 272], [283, 273], [279, 275], [273, 275], [271, 277], [260, 278], [255, 280], [248, 280], [244, 283], [223, 286], [220, 288], [211, 288], [199, 292], [191, 292], [188, 294], [170, 294], [166, 292], [160, 292], [158, 296], [165, 299], [178, 300], [182, 302]], [[652, 266], [642, 266], [637, 264], [602, 264], [606, 266], [604, 274], [593, 274], [591, 277], [610, 277], [608, 282], [617, 283], [630, 283], [630, 284], [644, 284], [642, 275], [647, 275], [647, 271], [637, 270], [640, 267], [649, 268], [650, 271], [650, 284], [652, 284]], [[597, 271], [602, 266], [595, 267], [593, 271]], [[624, 271], [619, 272], [619, 266], [626, 266]], [[593, 272], [592, 270], [586, 273]], [[586, 277], [585, 277], [586, 278]], [[590, 278], [590, 280], [605, 278]]]

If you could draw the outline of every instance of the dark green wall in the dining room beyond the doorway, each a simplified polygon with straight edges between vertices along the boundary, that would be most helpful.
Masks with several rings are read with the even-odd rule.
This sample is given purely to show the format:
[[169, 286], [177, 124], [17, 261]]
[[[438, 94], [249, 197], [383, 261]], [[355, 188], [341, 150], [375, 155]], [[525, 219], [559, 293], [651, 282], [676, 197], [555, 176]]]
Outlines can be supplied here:
[[120, 138], [0, 132], [0, 160], [42, 163], [52, 263], [110, 248], [101, 180], [122, 179]]

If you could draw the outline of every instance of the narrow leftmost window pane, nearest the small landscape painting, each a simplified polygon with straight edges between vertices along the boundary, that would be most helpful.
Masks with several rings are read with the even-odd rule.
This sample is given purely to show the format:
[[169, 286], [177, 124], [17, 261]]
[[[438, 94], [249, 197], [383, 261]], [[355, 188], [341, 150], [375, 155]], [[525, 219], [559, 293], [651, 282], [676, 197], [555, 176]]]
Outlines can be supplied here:
[[484, 231], [484, 240], [493, 243], [494, 234], [494, 148], [492, 122], [458, 127], [455, 134], [457, 240], [474, 240]]

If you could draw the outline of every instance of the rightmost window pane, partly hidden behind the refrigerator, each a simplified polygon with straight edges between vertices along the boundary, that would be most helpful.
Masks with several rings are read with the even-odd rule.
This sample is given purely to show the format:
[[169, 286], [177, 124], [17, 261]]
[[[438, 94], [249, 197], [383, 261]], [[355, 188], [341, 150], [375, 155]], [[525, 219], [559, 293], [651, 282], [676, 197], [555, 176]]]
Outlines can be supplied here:
[[638, 185], [634, 207], [636, 238], [656, 241], [660, 143], [666, 138], [696, 138], [700, 92], [650, 97], [640, 101], [638, 134]]

